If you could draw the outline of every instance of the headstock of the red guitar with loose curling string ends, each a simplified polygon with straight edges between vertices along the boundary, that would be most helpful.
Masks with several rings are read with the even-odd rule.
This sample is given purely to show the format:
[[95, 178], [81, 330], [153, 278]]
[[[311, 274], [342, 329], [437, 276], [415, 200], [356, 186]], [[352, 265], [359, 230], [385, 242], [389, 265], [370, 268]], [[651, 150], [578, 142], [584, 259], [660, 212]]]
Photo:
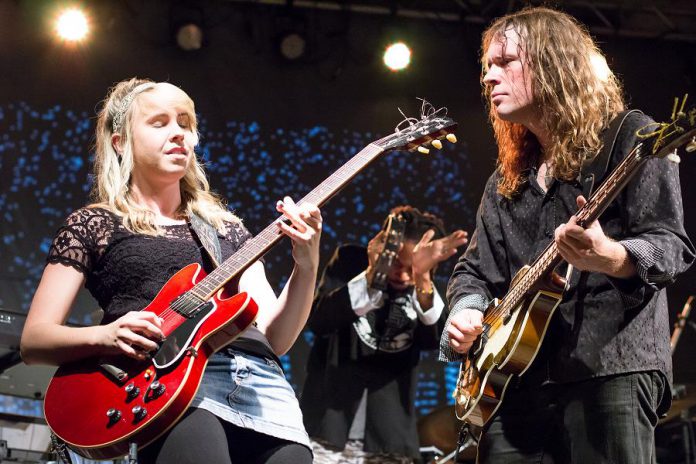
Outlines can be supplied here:
[[457, 138], [453, 131], [457, 123], [447, 117], [447, 109], [435, 110], [430, 103], [423, 100], [421, 117], [405, 118], [393, 134], [376, 142], [384, 151], [390, 150], [418, 150], [420, 153], [428, 153], [425, 145], [431, 144], [438, 150], [442, 148], [441, 139], [455, 143]]

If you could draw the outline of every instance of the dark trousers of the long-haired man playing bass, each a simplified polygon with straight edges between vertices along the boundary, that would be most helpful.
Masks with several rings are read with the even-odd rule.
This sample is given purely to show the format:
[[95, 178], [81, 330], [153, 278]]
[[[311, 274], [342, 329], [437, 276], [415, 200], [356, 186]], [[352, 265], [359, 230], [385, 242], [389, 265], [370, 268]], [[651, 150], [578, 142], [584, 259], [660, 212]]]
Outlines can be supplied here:
[[479, 463], [654, 464], [663, 374], [508, 388], [479, 443]]

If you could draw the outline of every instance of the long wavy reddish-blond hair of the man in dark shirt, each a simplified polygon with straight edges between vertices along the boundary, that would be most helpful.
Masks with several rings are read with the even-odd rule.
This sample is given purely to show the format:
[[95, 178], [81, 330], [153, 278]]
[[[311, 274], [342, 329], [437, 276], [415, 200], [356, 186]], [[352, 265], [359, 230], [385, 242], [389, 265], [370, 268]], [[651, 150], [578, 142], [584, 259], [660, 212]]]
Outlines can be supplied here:
[[[546, 156], [553, 160], [554, 177], [573, 180], [582, 162], [601, 149], [602, 129], [623, 111], [621, 84], [608, 69], [604, 75], [596, 71], [593, 60], [604, 57], [580, 23], [541, 7], [504, 16], [486, 29], [481, 45], [484, 74], [488, 48], [495, 40], [505, 41], [510, 29], [520, 36], [534, 105], [550, 135]], [[483, 91], [498, 143], [498, 192], [511, 198], [526, 181], [524, 171], [539, 162], [541, 147], [526, 127], [498, 117], [490, 104], [490, 86], [483, 84]]]

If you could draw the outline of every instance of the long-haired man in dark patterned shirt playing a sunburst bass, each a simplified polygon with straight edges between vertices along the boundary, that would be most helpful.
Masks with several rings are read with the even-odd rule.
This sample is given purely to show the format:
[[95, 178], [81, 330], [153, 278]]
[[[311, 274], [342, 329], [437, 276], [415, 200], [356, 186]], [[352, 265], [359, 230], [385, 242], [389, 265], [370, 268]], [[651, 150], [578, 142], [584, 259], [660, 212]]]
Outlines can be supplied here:
[[[604, 60], [585, 28], [551, 9], [494, 21], [481, 51], [498, 166], [448, 285], [442, 358], [468, 352], [488, 303], [554, 240], [581, 272], [538, 356], [489, 422], [479, 462], [654, 463], [654, 427], [672, 375], [664, 287], [694, 259], [677, 169], [648, 161], [599, 222], [581, 227], [576, 178], [624, 109], [616, 78], [597, 68]], [[628, 116], [610, 167], [650, 122]]]

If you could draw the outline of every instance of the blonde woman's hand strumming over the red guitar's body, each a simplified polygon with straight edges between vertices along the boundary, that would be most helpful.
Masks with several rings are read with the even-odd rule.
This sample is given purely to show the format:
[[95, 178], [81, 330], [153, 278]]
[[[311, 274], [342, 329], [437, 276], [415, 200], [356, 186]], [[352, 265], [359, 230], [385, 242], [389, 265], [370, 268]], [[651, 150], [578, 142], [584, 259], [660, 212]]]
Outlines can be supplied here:
[[100, 344], [109, 354], [125, 354], [144, 360], [164, 340], [162, 318], [150, 311], [131, 311], [110, 324], [101, 326]]

